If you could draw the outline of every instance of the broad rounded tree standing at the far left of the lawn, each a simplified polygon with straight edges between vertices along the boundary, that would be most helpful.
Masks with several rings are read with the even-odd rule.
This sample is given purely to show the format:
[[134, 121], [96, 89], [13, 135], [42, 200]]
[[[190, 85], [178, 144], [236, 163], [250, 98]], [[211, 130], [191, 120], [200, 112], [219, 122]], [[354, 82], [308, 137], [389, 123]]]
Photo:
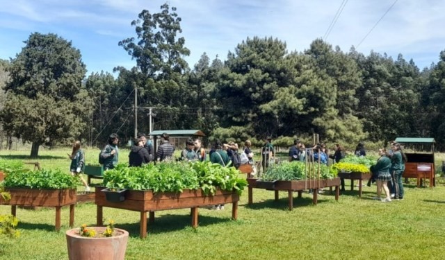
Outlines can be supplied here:
[[82, 86], [86, 66], [81, 52], [55, 34], [32, 33], [22, 51], [10, 61], [6, 102], [0, 112], [3, 129], [39, 146], [79, 138], [90, 112]]

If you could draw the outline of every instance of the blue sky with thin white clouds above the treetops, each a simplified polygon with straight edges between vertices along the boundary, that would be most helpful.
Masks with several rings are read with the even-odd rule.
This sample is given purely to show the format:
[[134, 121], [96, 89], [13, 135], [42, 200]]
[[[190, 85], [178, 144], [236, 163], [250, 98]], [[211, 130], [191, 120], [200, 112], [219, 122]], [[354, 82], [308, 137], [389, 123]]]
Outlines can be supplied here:
[[[141, 10], [159, 12], [158, 0], [11, 0], [0, 9], [0, 58], [14, 58], [33, 32], [56, 33], [79, 49], [88, 74], [133, 67], [136, 62], [118, 46], [134, 37], [131, 21]], [[323, 37], [341, 3], [346, 3], [325, 40], [349, 51], [357, 46], [393, 0], [172, 0], [181, 17], [181, 36], [191, 55], [190, 67], [206, 52], [225, 60], [247, 37], [276, 37], [289, 51], [304, 51]], [[398, 0], [359, 45], [357, 51], [402, 53], [419, 68], [439, 61], [445, 49], [445, 1]]]

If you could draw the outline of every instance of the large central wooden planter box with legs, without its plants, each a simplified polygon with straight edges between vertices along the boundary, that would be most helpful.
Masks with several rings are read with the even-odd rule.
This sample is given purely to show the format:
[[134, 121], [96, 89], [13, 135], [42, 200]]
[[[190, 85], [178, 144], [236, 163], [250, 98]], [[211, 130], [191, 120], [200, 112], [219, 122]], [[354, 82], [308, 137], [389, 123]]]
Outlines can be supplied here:
[[198, 207], [209, 207], [232, 203], [232, 218], [238, 218], [239, 195], [236, 191], [217, 190], [214, 196], [205, 195], [202, 190], [184, 190], [182, 193], [153, 193], [153, 191], [128, 190], [122, 202], [106, 200], [104, 187], [95, 187], [97, 225], [103, 225], [103, 207], [140, 211], [140, 237], [147, 236], [147, 211], [149, 222], [154, 222], [154, 211], [191, 208], [192, 227], [197, 227]]

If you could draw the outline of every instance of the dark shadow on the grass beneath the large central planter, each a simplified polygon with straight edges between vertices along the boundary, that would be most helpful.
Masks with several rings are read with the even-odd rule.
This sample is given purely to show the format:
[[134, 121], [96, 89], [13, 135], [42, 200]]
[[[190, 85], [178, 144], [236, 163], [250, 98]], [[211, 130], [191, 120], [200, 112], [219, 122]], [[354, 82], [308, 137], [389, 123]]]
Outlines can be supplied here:
[[[232, 208], [232, 207], [230, 207]], [[200, 211], [208, 209], [199, 209]], [[174, 232], [177, 230], [184, 229], [186, 227], [191, 227], [192, 217], [189, 214], [178, 215], [178, 214], [167, 214], [159, 217], [154, 217], [154, 223], [149, 223], [147, 218], [147, 233], [149, 234], [160, 234], [165, 232]], [[198, 225], [200, 227], [205, 227], [208, 225], [226, 223], [232, 221], [231, 218], [225, 216], [214, 217], [214, 216], [198, 216]], [[104, 223], [106, 224], [106, 223]], [[129, 232], [131, 237], [139, 237], [140, 225], [139, 223], [124, 223], [117, 226], [120, 229], [125, 229]]]

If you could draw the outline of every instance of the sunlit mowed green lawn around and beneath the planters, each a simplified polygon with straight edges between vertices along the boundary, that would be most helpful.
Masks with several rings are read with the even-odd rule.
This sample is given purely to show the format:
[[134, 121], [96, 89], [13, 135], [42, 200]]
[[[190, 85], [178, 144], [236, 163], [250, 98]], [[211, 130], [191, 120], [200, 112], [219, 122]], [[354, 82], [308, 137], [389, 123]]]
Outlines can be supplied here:
[[[63, 168], [68, 173], [68, 149], [41, 150], [39, 159], [25, 159], [29, 151], [0, 151], [0, 159], [37, 161], [44, 168]], [[87, 149], [87, 162], [96, 163], [98, 149]], [[437, 167], [440, 158], [437, 156]], [[120, 161], [128, 160], [121, 150]], [[238, 220], [232, 207], [223, 211], [200, 209], [197, 229], [191, 227], [189, 209], [156, 212], [147, 239], [139, 239], [139, 213], [104, 208], [104, 220], [130, 232], [126, 259], [444, 259], [445, 185], [416, 188], [405, 184], [405, 200], [389, 203], [372, 200], [375, 185], [364, 187], [362, 198], [346, 191], [339, 201], [329, 192], [312, 205], [312, 195], [294, 195], [289, 211], [287, 192], [273, 200], [273, 191], [254, 189], [248, 205], [247, 190], [241, 196]], [[348, 187], [348, 182], [347, 189]], [[83, 187], [79, 187], [83, 190]], [[10, 207], [0, 205], [0, 214]], [[0, 240], [0, 259], [67, 259], [65, 231], [68, 207], [62, 211], [62, 229], [54, 231], [54, 209], [17, 209], [19, 239]], [[76, 206], [74, 225], [95, 225], [92, 203]]]

